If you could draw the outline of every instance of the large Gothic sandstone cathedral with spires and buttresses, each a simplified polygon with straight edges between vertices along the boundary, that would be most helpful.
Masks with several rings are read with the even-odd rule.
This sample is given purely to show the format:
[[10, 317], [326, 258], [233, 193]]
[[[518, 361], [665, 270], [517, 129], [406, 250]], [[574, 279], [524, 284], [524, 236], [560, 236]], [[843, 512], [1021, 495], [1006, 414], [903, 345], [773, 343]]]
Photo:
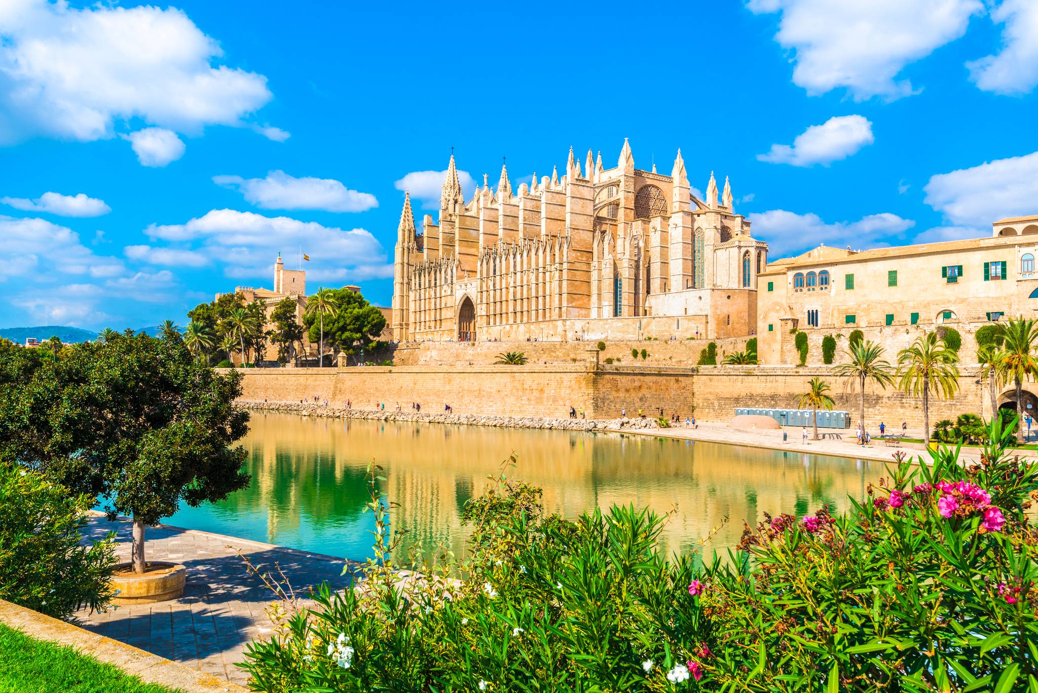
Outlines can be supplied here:
[[731, 186], [691, 194], [681, 152], [670, 176], [570, 150], [513, 189], [502, 165], [465, 201], [452, 155], [439, 217], [415, 226], [405, 193], [392, 334], [415, 341], [715, 338], [754, 332], [767, 244], [735, 213]]

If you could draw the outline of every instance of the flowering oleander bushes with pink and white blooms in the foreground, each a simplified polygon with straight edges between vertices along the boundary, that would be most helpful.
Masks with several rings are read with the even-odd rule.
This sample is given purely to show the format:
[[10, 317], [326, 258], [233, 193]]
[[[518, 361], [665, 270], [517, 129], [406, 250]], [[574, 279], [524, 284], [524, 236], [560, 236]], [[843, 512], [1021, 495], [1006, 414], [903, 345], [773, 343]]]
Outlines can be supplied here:
[[468, 558], [401, 574], [373, 491], [363, 579], [244, 666], [262, 691], [1035, 691], [1038, 470], [990, 439], [969, 467], [898, 453], [846, 514], [765, 514], [709, 560], [664, 555], [666, 516], [568, 522], [501, 475], [465, 506]]

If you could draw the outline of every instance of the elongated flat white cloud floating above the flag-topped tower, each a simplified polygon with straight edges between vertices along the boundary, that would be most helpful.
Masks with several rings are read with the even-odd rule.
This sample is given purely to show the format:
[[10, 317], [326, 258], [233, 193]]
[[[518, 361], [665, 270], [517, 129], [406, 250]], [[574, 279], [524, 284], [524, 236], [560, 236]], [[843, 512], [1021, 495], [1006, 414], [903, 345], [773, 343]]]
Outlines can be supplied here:
[[294, 178], [283, 170], [272, 170], [267, 178], [214, 176], [213, 182], [237, 188], [247, 202], [261, 209], [363, 212], [379, 206], [379, 201], [370, 192], [350, 190], [331, 179]]

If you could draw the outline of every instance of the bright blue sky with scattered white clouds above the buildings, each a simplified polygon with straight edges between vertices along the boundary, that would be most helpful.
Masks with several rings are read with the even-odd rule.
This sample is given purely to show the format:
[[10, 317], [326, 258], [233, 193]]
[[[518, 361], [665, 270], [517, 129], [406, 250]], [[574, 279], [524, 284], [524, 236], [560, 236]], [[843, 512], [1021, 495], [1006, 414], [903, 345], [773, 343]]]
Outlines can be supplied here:
[[350, 4], [0, 2], [0, 326], [183, 323], [300, 246], [388, 304], [452, 146], [516, 186], [680, 146], [772, 258], [1038, 213], [1035, 0]]

